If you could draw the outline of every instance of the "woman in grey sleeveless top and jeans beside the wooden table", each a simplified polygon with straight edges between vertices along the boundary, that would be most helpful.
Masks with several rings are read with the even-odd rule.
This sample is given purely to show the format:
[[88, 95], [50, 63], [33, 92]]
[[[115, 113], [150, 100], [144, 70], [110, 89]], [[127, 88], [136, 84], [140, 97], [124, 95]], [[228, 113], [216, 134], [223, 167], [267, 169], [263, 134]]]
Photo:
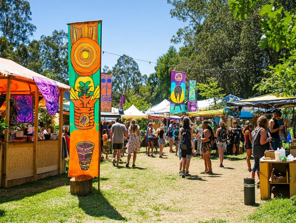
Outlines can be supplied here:
[[260, 116], [257, 120], [258, 126], [255, 128], [253, 135], [253, 156], [254, 167], [251, 171], [252, 178], [255, 178], [255, 172], [257, 173], [257, 185], [260, 184], [259, 171], [260, 171], [260, 159], [264, 156], [264, 151], [268, 150], [271, 137], [267, 138], [267, 129], [269, 126], [268, 120], [265, 116]]

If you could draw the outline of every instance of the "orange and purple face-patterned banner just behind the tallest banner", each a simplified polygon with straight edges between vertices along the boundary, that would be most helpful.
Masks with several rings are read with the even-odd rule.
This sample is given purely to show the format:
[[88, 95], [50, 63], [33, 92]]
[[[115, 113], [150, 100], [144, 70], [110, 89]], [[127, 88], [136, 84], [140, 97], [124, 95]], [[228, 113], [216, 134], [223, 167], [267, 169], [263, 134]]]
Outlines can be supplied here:
[[101, 73], [101, 111], [112, 112], [112, 73]]

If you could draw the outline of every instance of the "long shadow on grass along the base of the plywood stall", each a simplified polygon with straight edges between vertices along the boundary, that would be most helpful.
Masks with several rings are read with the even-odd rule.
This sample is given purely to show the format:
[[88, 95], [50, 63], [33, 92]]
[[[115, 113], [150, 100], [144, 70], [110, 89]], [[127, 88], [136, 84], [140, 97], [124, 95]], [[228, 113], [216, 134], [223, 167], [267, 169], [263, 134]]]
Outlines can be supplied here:
[[13, 200], [21, 200], [25, 197], [30, 197], [56, 187], [70, 185], [70, 177], [68, 173], [49, 176], [38, 181], [16, 185], [9, 188], [0, 189], [0, 203], [5, 203]]

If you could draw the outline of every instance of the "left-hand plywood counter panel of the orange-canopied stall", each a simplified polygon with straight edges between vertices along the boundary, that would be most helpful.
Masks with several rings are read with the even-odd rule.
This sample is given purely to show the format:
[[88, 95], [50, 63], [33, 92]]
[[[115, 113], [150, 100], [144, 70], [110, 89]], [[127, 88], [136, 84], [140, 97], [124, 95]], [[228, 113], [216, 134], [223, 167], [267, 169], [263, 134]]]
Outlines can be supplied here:
[[9, 144], [7, 149], [7, 180], [33, 176], [34, 143]]

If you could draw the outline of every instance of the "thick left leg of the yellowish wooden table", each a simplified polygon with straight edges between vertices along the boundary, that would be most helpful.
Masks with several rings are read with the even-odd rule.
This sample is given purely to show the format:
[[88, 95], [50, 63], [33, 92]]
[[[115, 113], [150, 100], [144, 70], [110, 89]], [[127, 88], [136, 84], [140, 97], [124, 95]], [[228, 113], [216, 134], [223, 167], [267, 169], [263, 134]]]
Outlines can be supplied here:
[[271, 166], [269, 163], [260, 162], [260, 198], [261, 200], [270, 199], [270, 182]]

